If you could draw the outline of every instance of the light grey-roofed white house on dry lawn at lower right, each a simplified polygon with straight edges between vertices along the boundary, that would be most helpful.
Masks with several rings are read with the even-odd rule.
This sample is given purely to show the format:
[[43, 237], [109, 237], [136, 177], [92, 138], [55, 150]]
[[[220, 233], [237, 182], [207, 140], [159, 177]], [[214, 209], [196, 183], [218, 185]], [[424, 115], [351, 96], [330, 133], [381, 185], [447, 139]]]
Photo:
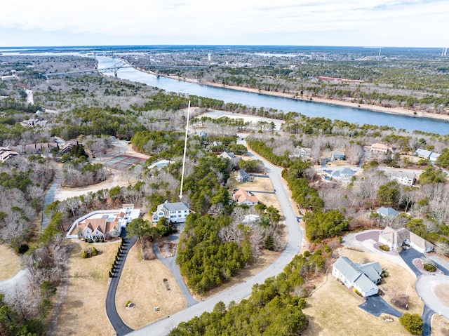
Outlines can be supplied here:
[[333, 264], [332, 275], [342, 281], [347, 288], [354, 288], [363, 297], [376, 295], [379, 292], [377, 284], [380, 283], [382, 268], [379, 262], [358, 264], [348, 257], [340, 257]]

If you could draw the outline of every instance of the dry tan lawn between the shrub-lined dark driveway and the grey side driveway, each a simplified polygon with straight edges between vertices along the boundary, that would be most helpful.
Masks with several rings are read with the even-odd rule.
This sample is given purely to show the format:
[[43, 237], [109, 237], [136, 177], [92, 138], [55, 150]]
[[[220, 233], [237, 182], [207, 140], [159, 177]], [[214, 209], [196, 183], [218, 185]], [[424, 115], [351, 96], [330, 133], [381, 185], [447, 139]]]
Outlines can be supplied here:
[[[125, 308], [128, 300], [135, 304], [133, 309]], [[154, 311], [154, 307], [160, 307], [160, 311]], [[170, 270], [159, 260], [142, 260], [140, 246], [133, 246], [116, 293], [116, 309], [122, 321], [130, 328], [142, 328], [186, 307], [187, 301]]]

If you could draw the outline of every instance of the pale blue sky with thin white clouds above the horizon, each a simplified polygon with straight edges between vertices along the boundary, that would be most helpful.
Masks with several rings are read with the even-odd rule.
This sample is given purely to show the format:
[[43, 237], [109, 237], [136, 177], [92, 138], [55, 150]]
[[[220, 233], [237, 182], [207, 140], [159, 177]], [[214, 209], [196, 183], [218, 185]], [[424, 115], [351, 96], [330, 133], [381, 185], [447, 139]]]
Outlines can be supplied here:
[[0, 0], [0, 46], [449, 46], [448, 0]]

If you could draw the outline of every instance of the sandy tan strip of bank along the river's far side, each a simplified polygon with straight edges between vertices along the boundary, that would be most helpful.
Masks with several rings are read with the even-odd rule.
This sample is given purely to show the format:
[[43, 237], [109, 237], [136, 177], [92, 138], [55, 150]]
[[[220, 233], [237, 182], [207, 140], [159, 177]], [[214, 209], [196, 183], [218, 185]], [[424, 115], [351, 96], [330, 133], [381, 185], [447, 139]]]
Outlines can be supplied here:
[[[147, 72], [149, 74], [156, 75], [155, 72], [136, 68], [142, 72]], [[184, 78], [180, 76], [173, 76], [173, 75], [166, 75], [166, 74], [159, 74], [159, 76], [163, 76], [169, 79], [175, 79], [178, 81], [187, 81], [189, 83], [196, 83], [206, 86], [215, 86], [217, 88], [228, 88], [229, 90], [237, 90], [237, 91], [244, 91], [244, 92], [250, 92], [250, 93], [259, 93], [261, 95], [272, 95], [274, 97], [281, 97], [281, 98], [289, 98], [292, 100], [301, 100], [303, 102], [318, 102], [320, 104], [328, 104], [328, 105], [337, 105], [342, 107], [351, 107], [354, 109], [365, 109], [371, 112], [380, 112], [380, 113], [387, 113], [387, 114], [396, 114], [401, 116], [412, 116], [414, 118], [427, 118], [427, 119], [436, 119], [441, 121], [449, 121], [449, 115], [448, 114], [436, 114], [436, 113], [429, 113], [424, 111], [413, 111], [410, 109], [404, 109], [403, 107], [383, 107], [378, 105], [369, 105], [369, 104], [358, 104], [357, 102], [347, 102], [344, 100], [336, 100], [336, 99], [328, 99], [328, 98], [318, 98], [318, 97], [309, 97], [304, 96], [304, 98], [297, 98], [292, 93], [281, 93], [281, 92], [274, 92], [274, 91], [267, 91], [267, 90], [259, 90], [257, 88], [246, 88], [243, 86], [231, 86], [231, 85], [224, 85], [221, 83], [213, 83], [210, 81], [199, 81], [198, 79], [189, 79]], [[288, 112], [288, 111], [284, 111]]]

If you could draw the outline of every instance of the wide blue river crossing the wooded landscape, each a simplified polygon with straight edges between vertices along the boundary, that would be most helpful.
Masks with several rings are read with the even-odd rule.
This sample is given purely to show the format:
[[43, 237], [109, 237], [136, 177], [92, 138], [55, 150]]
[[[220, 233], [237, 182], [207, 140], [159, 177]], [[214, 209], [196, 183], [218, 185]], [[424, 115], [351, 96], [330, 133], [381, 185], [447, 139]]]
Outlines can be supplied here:
[[[123, 65], [121, 60], [98, 56], [98, 69]], [[279, 109], [283, 112], [299, 112], [306, 116], [323, 116], [329, 119], [340, 119], [351, 123], [369, 123], [377, 126], [390, 126], [396, 129], [422, 130], [424, 132], [448, 134], [449, 122], [436, 119], [419, 118], [413, 116], [400, 116], [373, 112], [364, 109], [341, 107], [337, 105], [321, 104], [317, 102], [304, 102], [290, 98], [262, 95], [260, 93], [248, 93], [228, 88], [217, 88], [186, 81], [178, 81], [166, 77], [159, 77], [132, 67], [119, 69], [117, 76], [121, 79], [145, 83], [156, 86], [168, 92], [185, 93], [201, 97], [215, 98], [224, 102], [235, 102], [251, 107], [264, 107], [265, 109]]]

